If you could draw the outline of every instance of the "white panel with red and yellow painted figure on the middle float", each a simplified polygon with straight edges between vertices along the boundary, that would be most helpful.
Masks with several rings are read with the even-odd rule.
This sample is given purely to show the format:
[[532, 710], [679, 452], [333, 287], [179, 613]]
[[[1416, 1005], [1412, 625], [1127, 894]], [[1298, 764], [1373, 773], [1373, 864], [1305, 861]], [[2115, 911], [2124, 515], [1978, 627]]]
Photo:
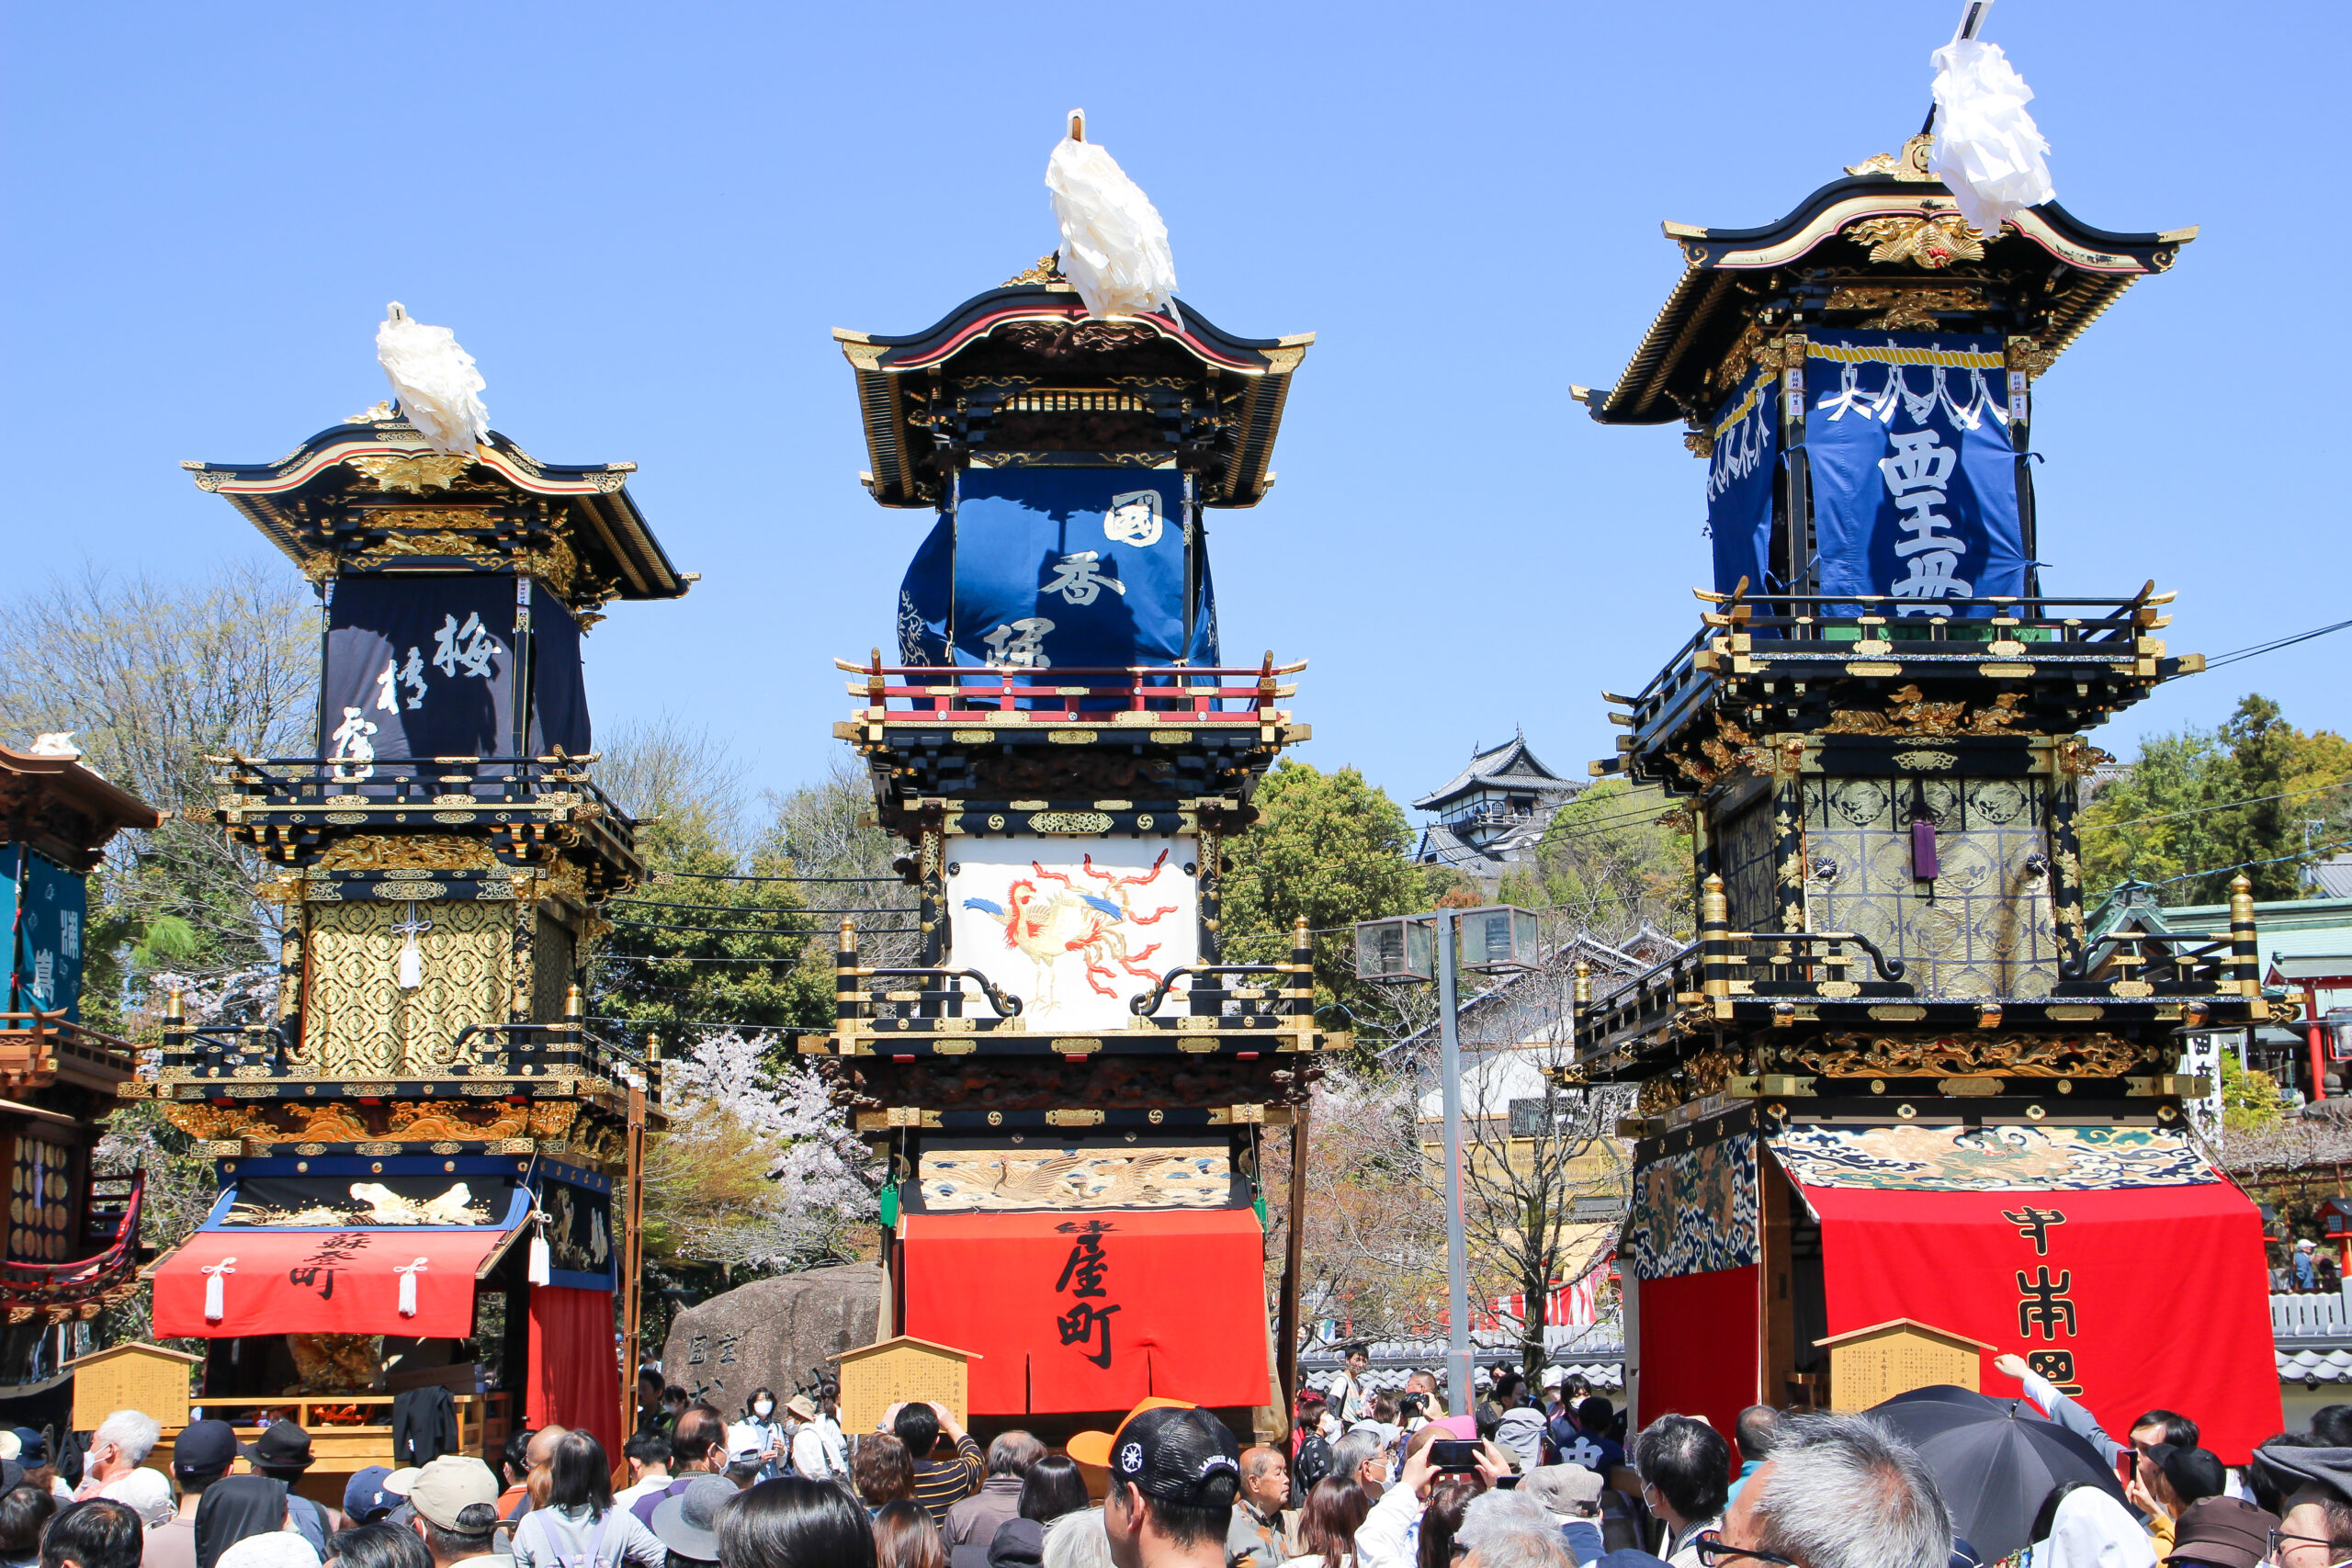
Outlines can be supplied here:
[[[948, 964], [1021, 997], [1033, 1034], [1124, 1030], [1129, 997], [1200, 961], [1200, 891], [1185, 870], [1197, 853], [1197, 839], [960, 844]], [[988, 1016], [988, 1004], [974, 997], [967, 1011]]]

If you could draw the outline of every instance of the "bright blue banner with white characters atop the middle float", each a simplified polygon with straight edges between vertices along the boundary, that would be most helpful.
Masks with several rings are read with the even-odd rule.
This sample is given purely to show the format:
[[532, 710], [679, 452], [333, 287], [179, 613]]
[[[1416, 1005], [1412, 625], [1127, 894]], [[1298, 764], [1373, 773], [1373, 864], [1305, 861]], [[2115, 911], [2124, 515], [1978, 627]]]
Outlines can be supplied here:
[[898, 588], [901, 661], [1216, 663], [1209, 562], [1185, 527], [1183, 491], [1174, 470], [964, 470], [955, 515], [938, 520]]

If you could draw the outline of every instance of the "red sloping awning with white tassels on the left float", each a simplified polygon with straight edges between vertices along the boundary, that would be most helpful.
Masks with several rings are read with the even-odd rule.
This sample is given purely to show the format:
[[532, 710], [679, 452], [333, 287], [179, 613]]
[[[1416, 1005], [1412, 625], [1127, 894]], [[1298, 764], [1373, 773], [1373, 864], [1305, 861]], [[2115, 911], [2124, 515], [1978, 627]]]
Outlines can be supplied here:
[[[200, 1229], [155, 1265], [155, 1333], [466, 1338], [473, 1274], [506, 1237], [503, 1229]], [[205, 1269], [223, 1262], [226, 1312], [207, 1324]], [[400, 1269], [414, 1272], [416, 1316], [400, 1314]]]

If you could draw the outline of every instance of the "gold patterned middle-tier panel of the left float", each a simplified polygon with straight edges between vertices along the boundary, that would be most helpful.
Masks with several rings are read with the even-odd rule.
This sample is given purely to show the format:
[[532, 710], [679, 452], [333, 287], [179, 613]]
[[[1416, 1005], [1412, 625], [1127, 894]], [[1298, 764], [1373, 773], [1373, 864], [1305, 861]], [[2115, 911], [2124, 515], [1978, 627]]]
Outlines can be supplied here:
[[400, 990], [405, 903], [310, 905], [303, 1065], [325, 1074], [416, 1077], [485, 1056], [466, 1025], [506, 1023], [510, 903], [414, 905], [423, 983]]

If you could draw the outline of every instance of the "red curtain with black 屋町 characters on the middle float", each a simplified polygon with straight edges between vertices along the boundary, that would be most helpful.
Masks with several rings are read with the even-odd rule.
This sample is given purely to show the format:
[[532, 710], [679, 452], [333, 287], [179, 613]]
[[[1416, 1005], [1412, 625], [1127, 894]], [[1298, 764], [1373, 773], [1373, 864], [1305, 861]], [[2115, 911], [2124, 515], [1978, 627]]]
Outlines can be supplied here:
[[906, 1215], [903, 1244], [906, 1333], [981, 1356], [974, 1415], [1268, 1399], [1249, 1208]]

